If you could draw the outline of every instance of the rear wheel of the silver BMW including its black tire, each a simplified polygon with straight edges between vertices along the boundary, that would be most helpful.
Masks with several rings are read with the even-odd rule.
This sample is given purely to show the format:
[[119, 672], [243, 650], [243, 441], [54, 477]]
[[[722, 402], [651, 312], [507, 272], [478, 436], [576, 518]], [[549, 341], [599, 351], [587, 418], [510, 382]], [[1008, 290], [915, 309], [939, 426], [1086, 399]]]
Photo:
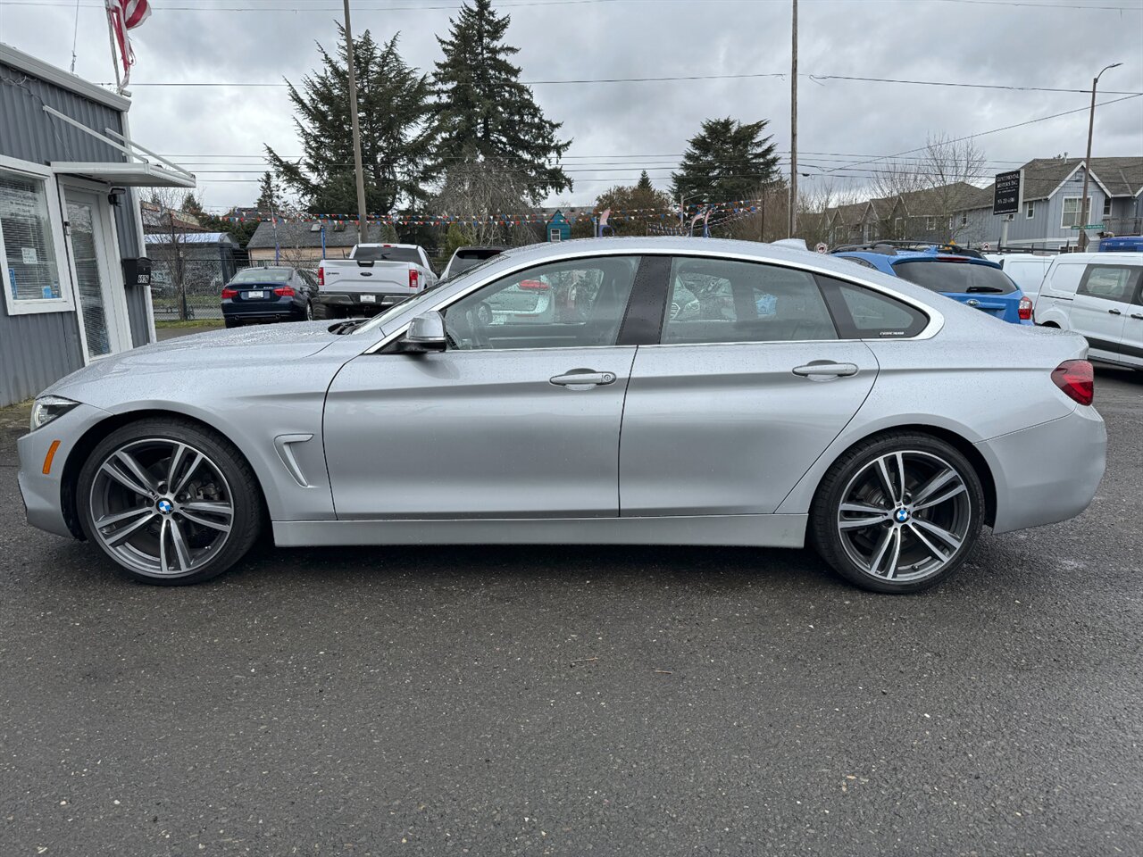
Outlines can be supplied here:
[[[902, 454], [898, 458], [896, 454]], [[890, 482], [895, 492], [901, 495], [901, 502], [896, 499], [881, 498], [864, 499], [861, 491], [876, 491], [876, 486], [885, 486], [884, 480], [877, 479], [878, 459], [890, 456], [890, 460], [905, 462], [906, 476], [901, 480], [896, 473], [900, 468], [889, 467]], [[940, 464], [936, 464], [936, 463]], [[925, 488], [925, 481], [935, 482], [936, 478], [943, 473], [938, 468], [943, 465], [953, 471], [964, 491], [958, 491], [943, 504], [933, 504], [929, 510], [913, 508], [913, 504], [922, 505], [920, 499], [916, 499], [912, 491], [918, 494]], [[933, 467], [932, 472], [926, 472], [926, 467]], [[917, 479], [911, 483], [911, 479]], [[864, 481], [863, 481], [864, 480]], [[897, 484], [904, 482], [904, 489], [897, 489]], [[954, 479], [950, 479], [948, 487], [934, 490], [929, 498], [938, 498], [958, 487]], [[882, 495], [888, 494], [881, 490]], [[876, 497], [876, 494], [866, 494], [868, 497]], [[962, 498], [961, 498], [962, 497]], [[853, 504], [868, 504], [869, 511], [853, 511], [841, 508], [844, 500]], [[885, 508], [886, 518], [880, 520], [873, 515], [872, 507]], [[904, 520], [897, 518], [903, 510]], [[920, 512], [920, 514], [917, 514]], [[842, 518], [842, 515], [850, 515]], [[858, 515], [853, 518], [852, 515]], [[865, 515], [871, 515], [866, 518]], [[934, 515], [942, 515], [942, 520], [933, 520]], [[868, 527], [861, 527], [861, 521], [876, 521]], [[809, 515], [809, 542], [814, 550], [824, 559], [838, 574], [850, 583], [871, 592], [884, 593], [909, 593], [920, 592], [930, 586], [935, 586], [953, 574], [972, 552], [976, 539], [980, 536], [984, 520], [984, 489], [981, 486], [980, 475], [973, 464], [953, 446], [929, 434], [917, 432], [890, 432], [881, 434], [857, 443], [847, 450], [833, 466], [826, 472], [817, 488]], [[945, 523], [949, 521], [949, 523]], [[842, 526], [845, 536], [842, 535]], [[952, 542], [942, 542], [933, 536], [930, 526], [940, 524], [940, 529], [950, 535], [959, 535], [959, 545], [953, 548]], [[893, 537], [886, 532], [897, 529], [896, 553], [890, 552], [892, 559], [888, 566], [896, 566], [896, 562], [906, 556], [918, 556], [916, 570], [909, 571], [910, 567], [904, 566], [906, 574], [902, 574], [902, 579], [894, 579], [902, 568], [888, 568], [886, 575], [876, 574], [881, 564], [881, 553], [877, 548], [881, 545], [893, 543]], [[920, 536], [916, 534], [920, 534]], [[882, 542], [882, 539], [885, 539]], [[865, 566], [858, 563], [856, 558], [861, 558], [862, 545], [868, 543], [871, 561]], [[936, 550], [933, 550], [933, 545]], [[909, 548], [906, 551], [906, 545]], [[942, 550], [943, 548], [943, 550]], [[948, 556], [944, 553], [948, 552]], [[933, 568], [925, 570], [922, 564], [924, 555], [928, 554], [928, 561]], [[943, 558], [943, 559], [942, 559]], [[872, 570], [871, 570], [872, 569]]]

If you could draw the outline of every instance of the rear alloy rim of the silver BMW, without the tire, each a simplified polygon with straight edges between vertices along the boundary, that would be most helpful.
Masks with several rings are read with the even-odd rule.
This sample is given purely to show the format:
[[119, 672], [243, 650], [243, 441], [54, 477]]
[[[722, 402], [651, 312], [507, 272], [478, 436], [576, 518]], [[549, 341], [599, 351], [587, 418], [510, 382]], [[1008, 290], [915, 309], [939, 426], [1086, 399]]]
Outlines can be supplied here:
[[894, 583], [938, 574], [965, 544], [972, 520], [957, 467], [916, 449], [887, 452], [857, 471], [837, 512], [849, 559], [866, 575]]

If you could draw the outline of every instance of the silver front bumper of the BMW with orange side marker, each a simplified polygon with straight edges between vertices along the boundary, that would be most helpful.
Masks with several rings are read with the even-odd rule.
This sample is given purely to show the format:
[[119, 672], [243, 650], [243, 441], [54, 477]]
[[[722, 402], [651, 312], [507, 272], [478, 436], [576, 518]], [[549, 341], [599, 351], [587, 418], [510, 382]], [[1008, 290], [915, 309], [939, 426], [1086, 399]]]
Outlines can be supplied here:
[[[30, 524], [57, 536], [74, 535], [64, 519], [64, 466], [75, 444], [88, 430], [110, 416], [111, 414], [101, 408], [79, 405], [58, 419], [16, 441], [16, 452], [19, 458], [16, 481], [24, 498], [24, 510]], [[53, 457], [51, 468], [45, 473], [43, 462], [48, 450], [51, 449], [51, 443], [57, 440], [59, 447]]]

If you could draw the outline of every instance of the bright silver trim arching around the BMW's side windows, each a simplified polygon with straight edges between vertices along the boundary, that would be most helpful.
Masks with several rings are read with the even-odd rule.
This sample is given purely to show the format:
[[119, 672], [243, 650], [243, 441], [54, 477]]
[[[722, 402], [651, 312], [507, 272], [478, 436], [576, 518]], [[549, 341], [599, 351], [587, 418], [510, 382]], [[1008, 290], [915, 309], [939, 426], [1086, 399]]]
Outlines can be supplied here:
[[[519, 273], [520, 271], [526, 271], [526, 270], [528, 270], [530, 267], [538, 267], [539, 265], [554, 264], [554, 263], [558, 263], [558, 262], [573, 262], [573, 261], [580, 259], [580, 258], [583, 258], [583, 259], [598, 258], [600, 256], [694, 256], [694, 257], [700, 257], [700, 258], [729, 259], [729, 261], [734, 261], [734, 262], [750, 262], [750, 263], [760, 264], [760, 265], [774, 265], [776, 267], [786, 267], [786, 269], [791, 269], [793, 271], [804, 271], [804, 272], [821, 274], [823, 277], [829, 277], [829, 278], [832, 278], [834, 280], [839, 280], [841, 282], [848, 283], [850, 286], [857, 286], [860, 288], [871, 289], [873, 291], [877, 291], [880, 295], [885, 295], [886, 297], [892, 297], [895, 301], [900, 301], [901, 303], [906, 304], [906, 305], [913, 307], [914, 310], [918, 310], [918, 311], [925, 313], [925, 317], [928, 319], [928, 323], [916, 336], [892, 337], [892, 338], [890, 337], [884, 337], [884, 338], [882, 337], [877, 337], [877, 338], [871, 338], [871, 339], [844, 339], [844, 338], [838, 338], [838, 339], [805, 339], [805, 341], [799, 341], [799, 342], [814, 342], [814, 343], [820, 343], [820, 342], [917, 342], [917, 341], [921, 341], [921, 339], [932, 339], [934, 336], [937, 335], [937, 333], [940, 333], [941, 328], [944, 327], [944, 315], [941, 313], [940, 310], [937, 310], [934, 306], [929, 306], [928, 304], [925, 304], [925, 303], [922, 303], [920, 301], [917, 301], [916, 298], [912, 298], [909, 295], [902, 295], [900, 291], [896, 291], [895, 289], [890, 289], [890, 288], [887, 288], [885, 286], [881, 286], [880, 283], [863, 281], [863, 280], [860, 280], [860, 279], [854, 279], [848, 273], [841, 273], [841, 272], [834, 271], [834, 270], [829, 269], [829, 267], [822, 267], [820, 265], [815, 265], [813, 263], [800, 263], [800, 262], [796, 263], [796, 262], [790, 262], [790, 261], [786, 261], [786, 259], [772, 259], [772, 258], [759, 257], [759, 256], [754, 256], [754, 255], [750, 255], [750, 254], [745, 254], [745, 253], [712, 253], [711, 250], [703, 251], [701, 248], [695, 248], [695, 249], [690, 249], [690, 248], [684, 248], [684, 249], [664, 249], [664, 248], [655, 247], [655, 248], [649, 248], [649, 249], [645, 249], [645, 250], [639, 250], [639, 249], [637, 249], [634, 247], [616, 247], [614, 249], [613, 248], [602, 248], [602, 249], [594, 249], [594, 250], [568, 249], [567, 251], [563, 251], [563, 253], [558, 253], [558, 254], [554, 254], [554, 255], [551, 255], [551, 256], [545, 256], [542, 259], [529, 259], [528, 262], [522, 262], [520, 264], [512, 265], [511, 267], [502, 269], [502, 270], [497, 271], [494, 275], [490, 275], [490, 277], [487, 277], [485, 279], [478, 280], [477, 282], [472, 283], [471, 286], [465, 287], [461, 291], [457, 291], [457, 293], [455, 293], [453, 295], [449, 295], [447, 297], [441, 297], [440, 301], [435, 302], [431, 306], [423, 307], [422, 311], [423, 312], [440, 312], [441, 310], [448, 309], [448, 306], [450, 306], [451, 304], [456, 303], [457, 301], [459, 301], [459, 299], [462, 299], [464, 297], [467, 297], [473, 291], [475, 291], [477, 289], [481, 289], [485, 286], [488, 286], [488, 285], [490, 285], [493, 282], [496, 282], [497, 280], [501, 280], [501, 279], [503, 279], [505, 277], [511, 277], [514, 273]], [[863, 271], [865, 269], [862, 269], [861, 266], [855, 265], [854, 270], [855, 270], [855, 272], [860, 273], [861, 271]], [[886, 274], [886, 275], [888, 275], [888, 274]], [[385, 347], [386, 345], [389, 345], [391, 342], [393, 342], [398, 337], [403, 336], [405, 333], [408, 330], [410, 323], [411, 323], [411, 320], [402, 322], [400, 327], [397, 327], [397, 328], [393, 329], [392, 334], [385, 334], [378, 342], [376, 342], [373, 345], [370, 345], [369, 347], [365, 349], [361, 353], [362, 354], [375, 354], [375, 353], [377, 353], [378, 351], [381, 351], [383, 347]], [[775, 342], [792, 342], [792, 341], [789, 341], [789, 339], [778, 339], [778, 341], [775, 341]], [[670, 347], [674, 347], [677, 345], [711, 345], [711, 344], [734, 345], [734, 344], [740, 344], [740, 343], [669, 343], [669, 346]], [[751, 342], [751, 343], [741, 343], [741, 344], [758, 345], [758, 344], [761, 344], [761, 343]], [[639, 347], [653, 347], [653, 346], [662, 347], [663, 343], [653, 343], [650, 346], [639, 346]], [[577, 346], [558, 346], [558, 347], [573, 349], [573, 347], [577, 347]], [[585, 347], [585, 349], [614, 349], [614, 347], [620, 347], [620, 346], [617, 346], [617, 345], [585, 345], [585, 346], [578, 346], [578, 347]], [[495, 349], [495, 351], [551, 351], [551, 349]]]

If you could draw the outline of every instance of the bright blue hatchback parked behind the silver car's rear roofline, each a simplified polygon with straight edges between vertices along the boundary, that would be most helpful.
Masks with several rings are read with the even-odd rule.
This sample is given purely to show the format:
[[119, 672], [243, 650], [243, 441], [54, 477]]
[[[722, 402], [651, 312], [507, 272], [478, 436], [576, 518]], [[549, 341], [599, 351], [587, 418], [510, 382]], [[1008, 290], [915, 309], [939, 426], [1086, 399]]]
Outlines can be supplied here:
[[834, 256], [900, 277], [1014, 325], [1032, 325], [1032, 301], [993, 262], [960, 248], [844, 248]]

